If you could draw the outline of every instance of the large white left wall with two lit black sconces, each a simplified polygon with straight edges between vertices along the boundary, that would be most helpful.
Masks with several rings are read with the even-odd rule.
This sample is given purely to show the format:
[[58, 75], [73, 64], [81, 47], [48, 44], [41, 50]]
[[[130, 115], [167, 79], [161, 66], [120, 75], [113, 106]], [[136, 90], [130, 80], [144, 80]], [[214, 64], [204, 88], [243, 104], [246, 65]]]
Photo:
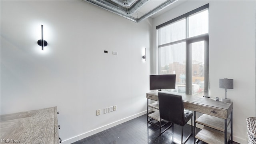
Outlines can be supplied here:
[[146, 114], [152, 19], [134, 23], [85, 1], [0, 5], [1, 114], [57, 106], [63, 143]]

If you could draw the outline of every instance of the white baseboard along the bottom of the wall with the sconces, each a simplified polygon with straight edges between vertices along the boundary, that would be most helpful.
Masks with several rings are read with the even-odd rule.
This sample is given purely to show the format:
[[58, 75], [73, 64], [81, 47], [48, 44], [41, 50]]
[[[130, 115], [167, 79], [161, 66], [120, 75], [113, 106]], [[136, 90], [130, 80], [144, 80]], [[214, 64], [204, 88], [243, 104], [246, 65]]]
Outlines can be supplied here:
[[107, 124], [107, 125], [105, 125], [105, 126], [102, 126], [102, 127], [100, 127], [100, 128], [96, 128], [96, 129], [91, 130], [91, 131], [89, 131], [89, 132], [85, 132], [85, 133], [80, 134], [80, 135], [78, 135], [78, 136], [75, 136], [75, 137], [73, 137], [73, 138], [69, 138], [69, 139], [67, 139], [67, 140], [62, 140], [62, 144], [71, 144], [71, 143], [76, 142], [76, 141], [78, 141], [78, 140], [82, 140], [82, 139], [84, 139], [84, 138], [86, 138], [86, 137], [88, 137], [88, 136], [92, 136], [92, 135], [94, 135], [94, 134], [97, 134], [98, 132], [102, 132], [103, 130], [106, 130], [106, 129], [108, 129], [108, 128], [112, 128], [113, 126], [117, 126], [118, 124], [122, 124], [122, 123], [124, 123], [124, 122], [129, 121], [129, 120], [132, 120], [132, 119], [134, 119], [134, 118], [137, 118], [137, 117], [139, 117], [139, 116], [142, 116], [142, 115], [144, 115], [144, 114], [146, 114], [146, 113], [147, 113], [147, 111], [143, 111], [143, 112], [140, 112], [140, 113], [138, 113], [138, 114], [134, 114], [134, 115], [132, 115], [132, 116], [129, 116], [129, 117], [127, 117], [127, 118], [123, 118], [123, 119], [121, 119], [121, 120], [118, 120], [118, 121], [116, 121], [116, 122], [112, 122], [112, 123]]

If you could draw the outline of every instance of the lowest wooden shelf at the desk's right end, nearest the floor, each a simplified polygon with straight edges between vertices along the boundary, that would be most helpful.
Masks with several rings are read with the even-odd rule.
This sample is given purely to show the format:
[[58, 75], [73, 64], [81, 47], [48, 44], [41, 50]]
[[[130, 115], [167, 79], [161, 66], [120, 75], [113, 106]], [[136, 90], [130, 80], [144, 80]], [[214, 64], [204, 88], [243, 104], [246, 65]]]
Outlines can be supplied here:
[[[230, 138], [230, 133], [227, 133], [227, 142]], [[199, 140], [202, 140], [208, 144], [224, 144], [225, 138], [224, 132], [221, 132], [219, 130], [209, 128], [208, 126], [204, 126], [198, 134], [196, 134], [196, 138]]]

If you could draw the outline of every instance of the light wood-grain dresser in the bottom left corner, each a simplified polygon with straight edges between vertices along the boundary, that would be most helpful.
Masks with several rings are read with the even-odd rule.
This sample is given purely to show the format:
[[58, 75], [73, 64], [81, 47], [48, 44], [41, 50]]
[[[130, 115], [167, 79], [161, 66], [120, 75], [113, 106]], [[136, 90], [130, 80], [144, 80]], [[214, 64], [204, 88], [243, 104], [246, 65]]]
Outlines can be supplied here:
[[59, 144], [57, 107], [1, 115], [1, 144]]

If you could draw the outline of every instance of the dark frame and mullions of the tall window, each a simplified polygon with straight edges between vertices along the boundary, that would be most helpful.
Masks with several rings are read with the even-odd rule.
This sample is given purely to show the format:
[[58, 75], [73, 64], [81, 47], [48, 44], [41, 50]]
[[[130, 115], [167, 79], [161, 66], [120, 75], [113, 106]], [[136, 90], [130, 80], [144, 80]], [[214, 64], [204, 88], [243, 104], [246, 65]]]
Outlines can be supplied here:
[[[157, 52], [160, 54], [160, 48], [163, 46], [172, 45], [179, 42], [186, 42], [186, 94], [192, 95], [192, 46], [191, 44], [194, 42], [200, 42], [204, 41], [204, 96], [208, 96], [208, 90], [209, 90], [209, 34], [201, 34], [198, 36], [193, 36], [188, 38], [188, 17], [196, 14], [197, 12], [201, 12], [203, 10], [209, 9], [209, 4], [205, 4], [204, 6], [201, 6], [199, 8], [196, 8], [190, 12], [187, 12], [186, 14], [183, 14], [181, 16], [178, 16], [172, 20], [169, 20], [168, 22], [164, 22], [163, 24], [160, 24], [156, 26], [156, 30], [159, 28], [162, 28], [166, 25], [172, 24], [173, 22], [177, 22], [178, 20], [181, 20], [183, 18], [186, 18], [186, 38], [183, 40], [178, 40], [175, 42], [169, 42], [166, 44], [157, 44]], [[208, 16], [208, 25], [209, 25], [209, 16]], [[209, 29], [209, 26], [208, 26]], [[209, 30], [208, 30], [209, 32]], [[158, 35], [158, 32], [157, 32]], [[157, 36], [158, 41], [158, 36]], [[157, 54], [157, 55], [158, 55]], [[160, 60], [159, 55], [157, 56], [158, 66], [157, 66], [157, 72], [160, 73]]]

